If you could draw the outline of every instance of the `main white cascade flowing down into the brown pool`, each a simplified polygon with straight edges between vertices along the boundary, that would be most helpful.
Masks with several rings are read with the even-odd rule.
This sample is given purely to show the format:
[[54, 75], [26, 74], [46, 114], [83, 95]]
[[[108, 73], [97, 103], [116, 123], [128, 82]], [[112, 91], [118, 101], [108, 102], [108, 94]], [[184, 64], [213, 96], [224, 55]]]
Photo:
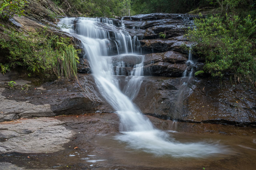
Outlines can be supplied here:
[[[139, 43], [138, 39], [136, 42], [136, 37], [135, 42], [132, 41], [124, 30], [124, 24], [121, 24], [121, 28], [115, 27], [107, 18], [63, 18], [60, 20], [61, 24], [70, 25], [70, 28], [63, 30], [82, 41], [96, 85], [120, 117], [121, 134], [117, 135], [116, 139], [134, 149], [142, 149], [155, 155], [202, 157], [224, 152], [217, 144], [175, 141], [168, 133], [155, 129], [149, 119], [132, 103], [142, 83], [144, 56], [131, 54], [140, 52]], [[113, 47], [111, 44], [114, 44]], [[117, 48], [117, 53], [114, 52], [114, 48]], [[114, 54], [116, 56], [113, 56]], [[136, 62], [130, 62], [130, 58], [132, 62]], [[114, 74], [124, 75], [119, 69], [128, 66], [129, 63], [132, 63], [134, 68], [130, 70], [130, 76], [122, 92], [118, 76]]]

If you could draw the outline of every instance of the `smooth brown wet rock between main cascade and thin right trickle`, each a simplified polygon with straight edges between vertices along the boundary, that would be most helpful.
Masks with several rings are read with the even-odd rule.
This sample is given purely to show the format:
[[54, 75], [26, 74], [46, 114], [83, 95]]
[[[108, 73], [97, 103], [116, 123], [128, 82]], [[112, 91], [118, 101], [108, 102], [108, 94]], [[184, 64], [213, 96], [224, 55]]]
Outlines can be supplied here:
[[182, 84], [181, 78], [145, 76], [134, 103], [146, 115], [170, 119], [182, 113]]

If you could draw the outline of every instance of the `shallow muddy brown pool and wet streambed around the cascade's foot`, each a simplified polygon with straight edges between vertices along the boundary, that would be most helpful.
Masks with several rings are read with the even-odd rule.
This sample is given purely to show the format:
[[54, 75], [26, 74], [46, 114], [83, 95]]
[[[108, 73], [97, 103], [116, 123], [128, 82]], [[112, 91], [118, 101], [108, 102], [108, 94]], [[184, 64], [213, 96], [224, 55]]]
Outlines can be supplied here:
[[[25, 169], [246, 169], [256, 167], [256, 129], [228, 125], [178, 123], [149, 117], [180, 143], [217, 143], [230, 152], [202, 158], [176, 158], [133, 149], [115, 140], [118, 117], [115, 114], [58, 117], [76, 135], [54, 153], [0, 154], [8, 162]], [[54, 144], [53, 144], [54, 145]], [[75, 147], [78, 147], [74, 149]], [[29, 158], [28, 158], [29, 157]], [[2, 169], [1, 167], [0, 169]], [[5, 168], [8, 169], [8, 168]], [[10, 168], [9, 168], [10, 169]], [[13, 169], [13, 168], [12, 168]], [[17, 168], [20, 169], [20, 168]]]

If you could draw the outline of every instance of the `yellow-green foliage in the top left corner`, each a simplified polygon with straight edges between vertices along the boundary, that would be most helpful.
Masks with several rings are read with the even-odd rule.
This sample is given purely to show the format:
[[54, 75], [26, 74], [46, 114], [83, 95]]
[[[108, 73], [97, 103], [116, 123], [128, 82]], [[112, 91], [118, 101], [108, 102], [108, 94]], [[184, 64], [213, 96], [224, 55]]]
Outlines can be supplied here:
[[26, 0], [0, 0], [0, 18], [8, 20], [15, 14], [24, 15], [24, 7], [28, 3]]

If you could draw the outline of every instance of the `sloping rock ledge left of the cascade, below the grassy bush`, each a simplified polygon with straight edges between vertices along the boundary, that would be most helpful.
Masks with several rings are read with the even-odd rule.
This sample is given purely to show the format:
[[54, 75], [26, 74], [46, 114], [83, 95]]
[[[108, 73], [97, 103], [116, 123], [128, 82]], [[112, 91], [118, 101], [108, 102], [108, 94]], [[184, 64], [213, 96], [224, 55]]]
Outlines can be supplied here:
[[0, 88], [0, 122], [20, 117], [112, 112], [111, 107], [97, 92], [90, 75], [80, 77], [79, 84], [75, 81], [45, 83], [42, 86], [32, 86], [27, 92], [18, 89], [11, 91], [7, 88], [8, 85], [4, 87], [6, 88]]

